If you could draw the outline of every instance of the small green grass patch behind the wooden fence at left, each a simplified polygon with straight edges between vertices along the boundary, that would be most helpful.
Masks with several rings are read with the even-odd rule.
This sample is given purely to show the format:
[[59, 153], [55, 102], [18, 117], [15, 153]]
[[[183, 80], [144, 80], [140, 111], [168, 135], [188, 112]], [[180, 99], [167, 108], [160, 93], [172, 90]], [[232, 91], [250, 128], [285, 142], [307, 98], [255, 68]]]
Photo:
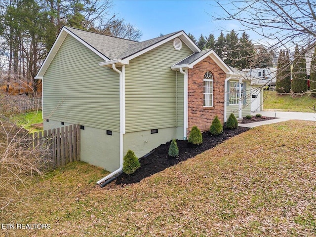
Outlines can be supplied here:
[[31, 126], [31, 124], [43, 122], [41, 110], [21, 113], [21, 114], [13, 116], [11, 120], [14, 121], [16, 124], [18, 124], [19, 126], [23, 126], [23, 128], [25, 128], [26, 130], [30, 132], [38, 132], [38, 131], [43, 130], [43, 129], [36, 129]]

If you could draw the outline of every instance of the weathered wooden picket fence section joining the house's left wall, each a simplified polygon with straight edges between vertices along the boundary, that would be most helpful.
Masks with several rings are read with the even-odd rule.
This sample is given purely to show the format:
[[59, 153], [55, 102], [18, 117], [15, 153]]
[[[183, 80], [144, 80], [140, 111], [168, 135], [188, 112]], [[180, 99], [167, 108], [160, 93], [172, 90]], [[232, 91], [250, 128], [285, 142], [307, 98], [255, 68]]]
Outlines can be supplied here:
[[[44, 150], [46, 168], [80, 160], [80, 125], [69, 125], [29, 134], [33, 147]], [[47, 161], [47, 162], [46, 162]]]

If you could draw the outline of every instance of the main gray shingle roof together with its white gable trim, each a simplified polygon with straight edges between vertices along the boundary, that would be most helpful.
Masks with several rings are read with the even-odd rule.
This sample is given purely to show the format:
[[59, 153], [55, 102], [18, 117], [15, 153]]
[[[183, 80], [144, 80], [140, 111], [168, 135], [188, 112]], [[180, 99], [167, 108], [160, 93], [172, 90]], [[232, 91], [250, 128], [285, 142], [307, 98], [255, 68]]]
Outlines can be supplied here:
[[129, 60], [177, 37], [179, 37], [193, 52], [200, 51], [197, 45], [185, 34], [184, 31], [174, 32], [151, 40], [138, 42], [64, 26], [49, 51], [44, 63], [40, 67], [36, 79], [42, 79], [67, 34], [71, 35], [76, 40], [79, 40], [83, 45], [99, 55], [104, 60], [104, 62], [99, 63], [100, 66], [118, 62], [121, 63], [122, 61], [124, 61], [124, 64], [128, 64]]

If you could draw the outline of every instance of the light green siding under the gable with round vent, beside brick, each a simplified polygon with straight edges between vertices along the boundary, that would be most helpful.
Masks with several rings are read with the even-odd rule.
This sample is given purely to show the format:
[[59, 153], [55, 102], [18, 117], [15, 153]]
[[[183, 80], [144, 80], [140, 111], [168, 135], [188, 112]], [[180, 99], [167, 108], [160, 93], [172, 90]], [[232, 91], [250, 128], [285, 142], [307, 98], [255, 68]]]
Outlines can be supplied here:
[[125, 68], [126, 132], [177, 126], [177, 72], [170, 67], [192, 53], [184, 43], [176, 51], [170, 40], [129, 62]]

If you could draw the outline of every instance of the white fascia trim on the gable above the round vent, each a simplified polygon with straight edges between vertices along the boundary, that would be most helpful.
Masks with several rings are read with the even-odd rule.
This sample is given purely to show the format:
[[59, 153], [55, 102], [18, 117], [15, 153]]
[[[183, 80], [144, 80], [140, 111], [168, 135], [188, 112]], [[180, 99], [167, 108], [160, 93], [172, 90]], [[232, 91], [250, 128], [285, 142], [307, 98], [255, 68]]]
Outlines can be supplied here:
[[168, 42], [170, 40], [173, 40], [173, 39], [175, 39], [177, 37], [179, 37], [181, 40], [183, 40], [191, 50], [194, 49], [194, 50], [192, 50], [193, 52], [197, 53], [197, 52], [201, 51], [197, 47], [197, 45], [195, 45], [195, 43], [193, 43], [192, 40], [190, 40], [190, 38], [184, 33], [184, 31], [180, 31], [179, 33], [177, 33], [177, 34], [175, 34], [173, 36], [170, 36], [167, 39], [159, 41], [158, 43], [155, 43], [154, 45], [152, 45], [152, 46], [150, 46], [148, 48], [145, 48], [145, 49], [139, 51], [138, 53], [135, 53], [135, 54], [133, 54], [131, 56], [128, 56], [128, 57], [124, 58], [124, 60], [130, 61], [130, 60], [132, 60], [132, 59], [134, 59], [134, 58], [136, 58], [136, 57], [138, 57], [138, 56], [140, 56], [140, 55], [142, 55], [142, 54], [144, 54], [144, 53], [146, 53], [146, 52], [148, 52], [148, 51], [150, 51], [150, 50], [152, 50], [152, 49], [154, 49], [154, 48], [156, 48], [156, 47], [158, 47], [158, 46], [160, 46], [160, 45], [162, 45], [162, 44], [164, 44], [164, 43], [166, 43], [166, 42]]

